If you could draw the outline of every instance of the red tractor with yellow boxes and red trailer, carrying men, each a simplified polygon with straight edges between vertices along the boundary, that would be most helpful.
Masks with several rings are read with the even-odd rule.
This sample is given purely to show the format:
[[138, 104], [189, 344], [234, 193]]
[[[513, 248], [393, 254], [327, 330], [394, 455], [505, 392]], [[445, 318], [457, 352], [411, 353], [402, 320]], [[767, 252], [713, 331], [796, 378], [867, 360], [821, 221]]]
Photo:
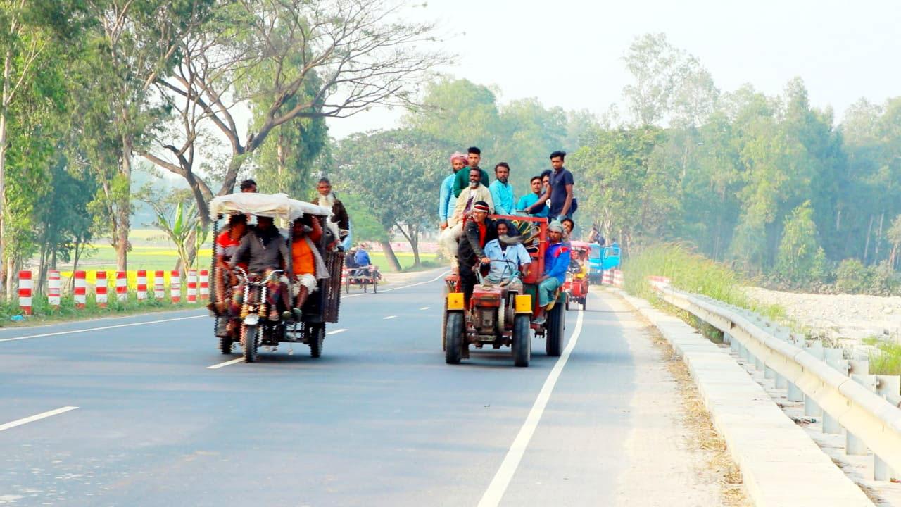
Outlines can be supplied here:
[[[460, 277], [450, 275], [445, 279], [444, 320], [441, 327], [441, 345], [447, 364], [459, 364], [469, 358], [469, 346], [511, 346], [514, 364], [528, 366], [532, 356], [531, 333], [544, 337], [547, 355], [562, 352], [565, 328], [566, 293], [560, 290], [546, 308], [544, 324], [532, 322], [538, 310], [538, 279], [544, 272], [544, 252], [548, 246], [548, 220], [542, 217], [506, 217], [523, 237], [523, 245], [532, 257], [532, 265], [523, 277], [523, 294], [504, 287], [479, 283], [472, 291], [469, 308], [464, 304], [460, 291]], [[511, 275], [518, 275], [513, 272]], [[480, 273], [479, 273], [480, 277]]]

